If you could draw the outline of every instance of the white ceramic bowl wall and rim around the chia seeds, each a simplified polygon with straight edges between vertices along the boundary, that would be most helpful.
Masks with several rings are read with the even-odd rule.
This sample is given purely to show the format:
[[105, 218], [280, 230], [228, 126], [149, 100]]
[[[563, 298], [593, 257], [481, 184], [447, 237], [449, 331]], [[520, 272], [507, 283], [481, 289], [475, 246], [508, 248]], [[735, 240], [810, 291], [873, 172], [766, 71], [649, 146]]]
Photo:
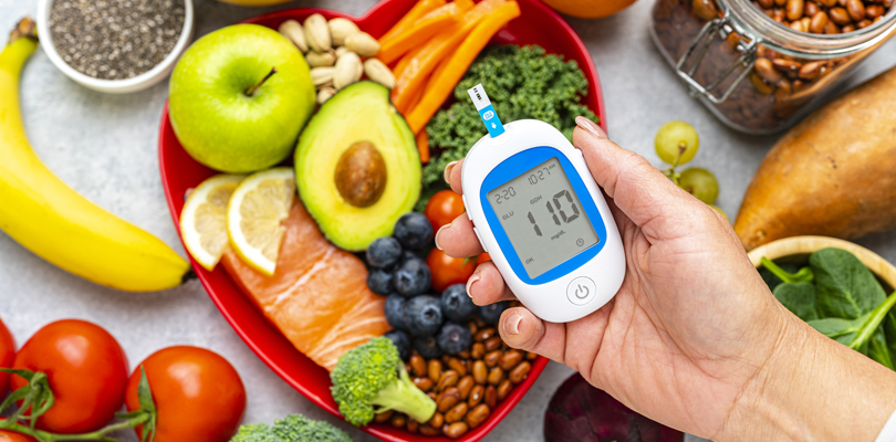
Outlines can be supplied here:
[[38, 36], [41, 41], [41, 48], [50, 61], [70, 78], [79, 84], [92, 88], [94, 91], [105, 92], [110, 94], [126, 94], [129, 92], [143, 91], [156, 83], [165, 80], [168, 74], [174, 70], [175, 63], [180, 57], [180, 54], [187, 49], [187, 45], [192, 39], [192, 0], [184, 0], [184, 29], [180, 31], [180, 36], [177, 40], [171, 52], [149, 71], [144, 72], [132, 78], [125, 80], [100, 80], [88, 75], [84, 75], [75, 71], [72, 66], [65, 63], [56, 51], [53, 44], [53, 38], [50, 32], [50, 10], [53, 6], [53, 0], [39, 0], [38, 2]]

